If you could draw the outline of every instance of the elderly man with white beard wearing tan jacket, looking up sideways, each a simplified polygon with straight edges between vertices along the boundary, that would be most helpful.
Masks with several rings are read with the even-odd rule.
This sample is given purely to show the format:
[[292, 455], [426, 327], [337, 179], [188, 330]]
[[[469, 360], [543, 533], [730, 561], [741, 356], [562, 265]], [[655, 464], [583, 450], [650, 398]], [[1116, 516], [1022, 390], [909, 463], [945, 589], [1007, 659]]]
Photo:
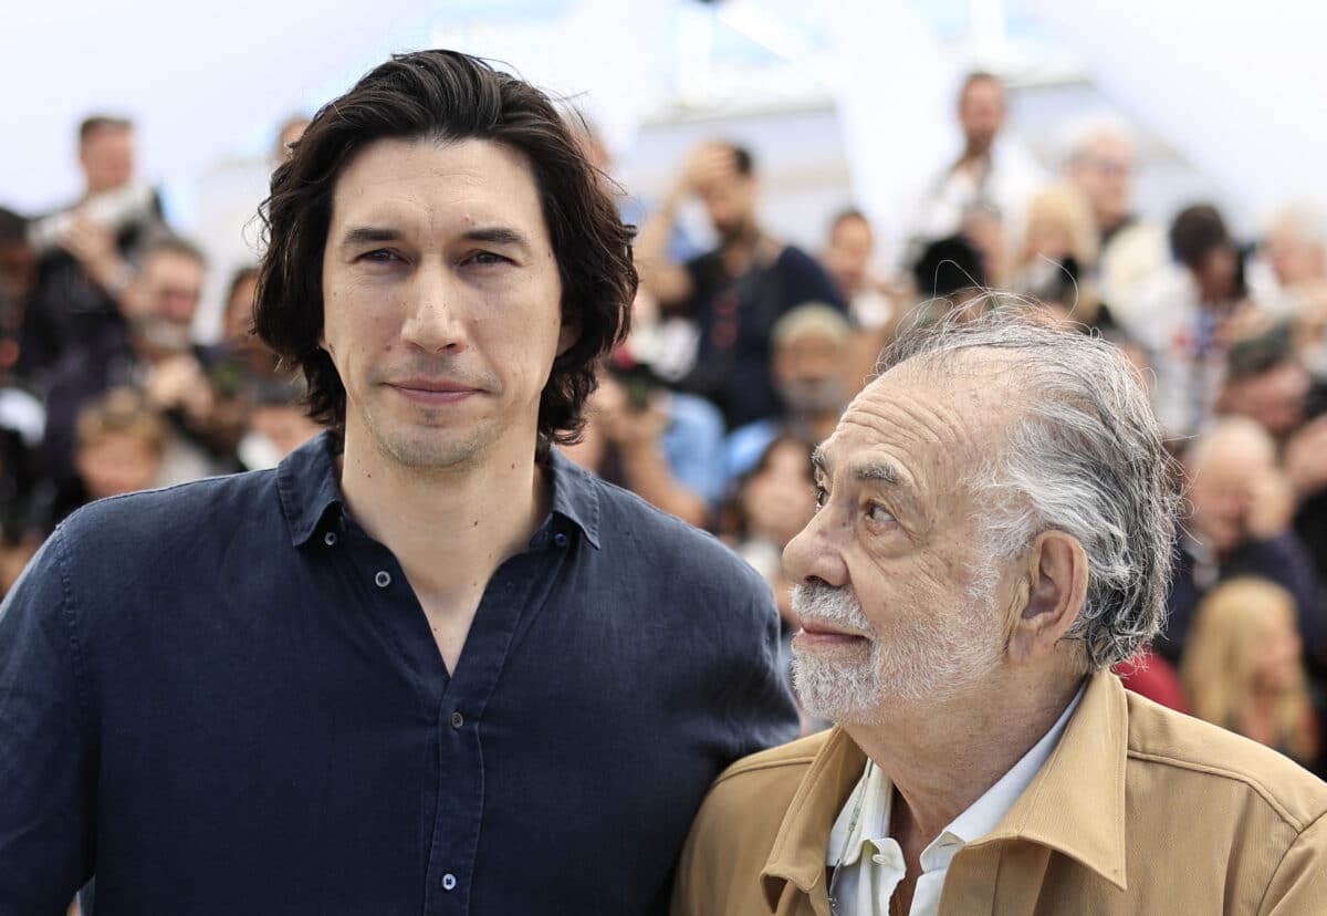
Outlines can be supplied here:
[[1006, 307], [882, 366], [784, 551], [837, 726], [719, 777], [673, 912], [1324, 912], [1327, 785], [1111, 672], [1162, 623], [1180, 503], [1124, 354]]

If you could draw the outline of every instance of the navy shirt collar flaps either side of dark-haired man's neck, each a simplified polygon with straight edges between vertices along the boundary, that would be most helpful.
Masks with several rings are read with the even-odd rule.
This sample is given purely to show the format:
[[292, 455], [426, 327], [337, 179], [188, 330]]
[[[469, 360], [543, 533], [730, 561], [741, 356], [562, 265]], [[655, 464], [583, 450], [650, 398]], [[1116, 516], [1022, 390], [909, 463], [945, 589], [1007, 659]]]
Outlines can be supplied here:
[[[296, 547], [318, 532], [333, 507], [337, 512], [342, 508], [336, 455], [336, 441], [324, 431], [287, 455], [276, 469], [281, 510]], [[552, 511], [580, 528], [597, 548], [600, 511], [594, 478], [556, 449], [547, 469], [553, 490]]]

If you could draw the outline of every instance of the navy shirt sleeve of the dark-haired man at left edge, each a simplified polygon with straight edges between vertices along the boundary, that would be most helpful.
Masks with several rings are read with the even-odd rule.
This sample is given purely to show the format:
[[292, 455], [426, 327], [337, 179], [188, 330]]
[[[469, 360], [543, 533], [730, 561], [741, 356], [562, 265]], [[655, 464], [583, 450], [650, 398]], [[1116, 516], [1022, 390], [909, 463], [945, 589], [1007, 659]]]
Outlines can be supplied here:
[[64, 532], [0, 605], [0, 913], [57, 916], [93, 871], [94, 770]]

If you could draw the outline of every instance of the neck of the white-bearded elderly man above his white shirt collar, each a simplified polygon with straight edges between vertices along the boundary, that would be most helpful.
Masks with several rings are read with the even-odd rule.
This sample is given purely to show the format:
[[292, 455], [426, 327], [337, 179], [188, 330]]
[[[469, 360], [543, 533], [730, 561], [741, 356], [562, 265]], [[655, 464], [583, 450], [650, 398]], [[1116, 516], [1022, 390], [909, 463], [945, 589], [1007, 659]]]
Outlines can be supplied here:
[[884, 726], [847, 726], [901, 801], [894, 822], [918, 852], [1055, 725], [1082, 682], [993, 684], [941, 706], [902, 705]]

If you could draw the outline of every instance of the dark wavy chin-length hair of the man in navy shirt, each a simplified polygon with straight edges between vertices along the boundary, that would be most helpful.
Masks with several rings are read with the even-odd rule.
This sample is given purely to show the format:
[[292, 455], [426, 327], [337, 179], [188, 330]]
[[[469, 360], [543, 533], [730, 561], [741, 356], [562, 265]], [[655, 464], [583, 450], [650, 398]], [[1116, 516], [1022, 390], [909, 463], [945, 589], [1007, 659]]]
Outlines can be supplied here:
[[486, 139], [528, 159], [561, 277], [563, 321], [580, 337], [553, 361], [539, 402], [541, 443], [575, 442], [594, 390], [596, 362], [629, 329], [636, 296], [633, 230], [609, 182], [585, 158], [548, 97], [487, 62], [453, 50], [395, 54], [324, 105], [263, 202], [267, 254], [259, 268], [257, 336], [308, 381], [309, 416], [345, 426], [345, 386], [322, 335], [322, 250], [332, 194], [350, 161], [380, 139]]

